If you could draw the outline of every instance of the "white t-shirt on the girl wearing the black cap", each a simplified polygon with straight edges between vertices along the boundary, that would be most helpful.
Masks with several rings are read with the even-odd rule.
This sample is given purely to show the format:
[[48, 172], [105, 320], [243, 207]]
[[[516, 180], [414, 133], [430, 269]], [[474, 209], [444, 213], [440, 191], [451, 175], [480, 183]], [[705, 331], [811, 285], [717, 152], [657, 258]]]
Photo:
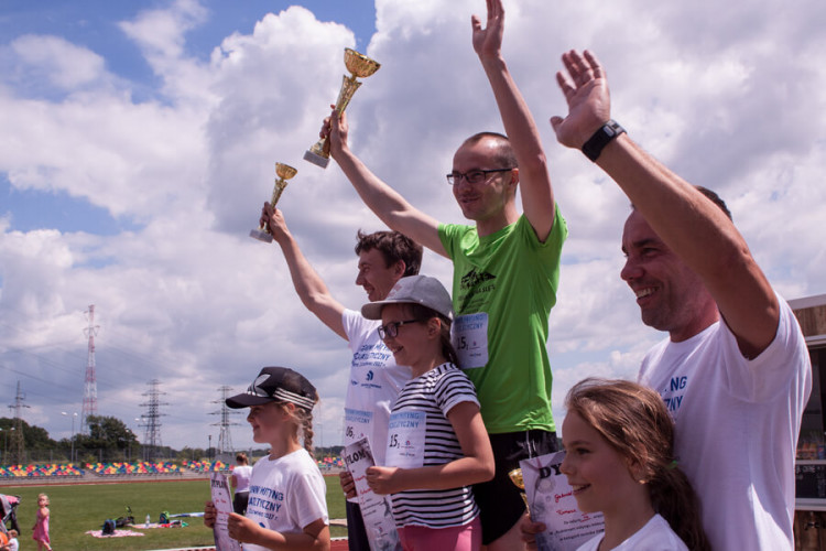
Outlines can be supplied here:
[[[252, 467], [247, 518], [269, 530], [303, 533], [304, 527], [327, 517], [327, 486], [318, 465], [303, 447], [271, 460], [262, 457]], [[265, 551], [243, 544], [244, 551]]]

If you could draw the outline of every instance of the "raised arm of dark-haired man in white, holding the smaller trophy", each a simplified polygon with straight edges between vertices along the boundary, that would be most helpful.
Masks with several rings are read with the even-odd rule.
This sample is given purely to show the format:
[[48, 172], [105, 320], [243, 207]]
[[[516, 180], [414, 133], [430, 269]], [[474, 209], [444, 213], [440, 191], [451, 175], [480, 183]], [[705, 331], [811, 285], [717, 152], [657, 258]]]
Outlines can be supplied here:
[[344, 305], [329, 294], [324, 280], [304, 258], [298, 244], [295, 242], [293, 235], [286, 227], [281, 210], [273, 208], [269, 203], [264, 203], [261, 209], [261, 223], [269, 225], [273, 240], [281, 247], [284, 260], [286, 260], [286, 266], [290, 269], [293, 287], [301, 302], [327, 327], [341, 338], [347, 339], [341, 322]]

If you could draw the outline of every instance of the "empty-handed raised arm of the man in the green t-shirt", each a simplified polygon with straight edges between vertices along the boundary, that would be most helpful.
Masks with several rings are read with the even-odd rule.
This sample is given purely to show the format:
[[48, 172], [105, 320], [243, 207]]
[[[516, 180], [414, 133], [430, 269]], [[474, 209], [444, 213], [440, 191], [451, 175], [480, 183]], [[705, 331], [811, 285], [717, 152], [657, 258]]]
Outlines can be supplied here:
[[504, 9], [501, 0], [487, 0], [485, 29], [477, 15], [471, 18], [474, 50], [493, 90], [504, 131], [519, 164], [522, 209], [536, 236], [544, 241], [554, 225], [554, 193], [540, 132], [522, 94], [502, 57]]

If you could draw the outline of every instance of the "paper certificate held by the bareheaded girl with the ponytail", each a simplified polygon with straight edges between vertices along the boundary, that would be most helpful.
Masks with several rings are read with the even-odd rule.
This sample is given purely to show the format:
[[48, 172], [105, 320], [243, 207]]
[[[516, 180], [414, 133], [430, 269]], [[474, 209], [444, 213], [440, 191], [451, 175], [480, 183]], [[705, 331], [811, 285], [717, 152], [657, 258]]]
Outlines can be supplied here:
[[540, 551], [574, 551], [605, 531], [601, 512], [577, 509], [573, 488], [559, 473], [564, 458], [565, 452], [556, 452], [519, 462], [531, 518], [546, 527], [536, 534]]

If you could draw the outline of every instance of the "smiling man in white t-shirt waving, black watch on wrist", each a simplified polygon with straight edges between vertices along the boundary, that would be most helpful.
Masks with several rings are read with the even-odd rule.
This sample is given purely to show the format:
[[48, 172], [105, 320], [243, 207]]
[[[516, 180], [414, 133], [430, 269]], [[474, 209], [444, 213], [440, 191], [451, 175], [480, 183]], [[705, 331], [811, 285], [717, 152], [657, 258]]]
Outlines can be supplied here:
[[610, 117], [605, 72], [589, 52], [563, 55], [558, 141], [580, 149], [633, 205], [621, 277], [644, 324], [669, 333], [639, 379], [676, 423], [675, 460], [700, 498], [713, 549], [792, 550], [794, 457], [812, 390], [808, 353], [730, 213], [671, 172]]

